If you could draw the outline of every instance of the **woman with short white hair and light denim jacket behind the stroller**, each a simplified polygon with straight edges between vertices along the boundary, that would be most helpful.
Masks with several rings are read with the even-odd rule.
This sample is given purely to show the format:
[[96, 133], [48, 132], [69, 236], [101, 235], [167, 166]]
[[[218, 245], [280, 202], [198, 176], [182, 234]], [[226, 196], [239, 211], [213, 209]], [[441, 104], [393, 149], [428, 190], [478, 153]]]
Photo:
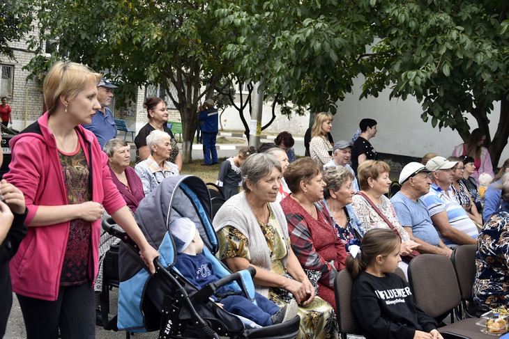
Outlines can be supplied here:
[[149, 194], [165, 178], [179, 175], [176, 164], [167, 161], [172, 153], [172, 140], [169, 134], [154, 129], [146, 137], [146, 145], [151, 155], [135, 166], [135, 171], [142, 179], [143, 191]]

